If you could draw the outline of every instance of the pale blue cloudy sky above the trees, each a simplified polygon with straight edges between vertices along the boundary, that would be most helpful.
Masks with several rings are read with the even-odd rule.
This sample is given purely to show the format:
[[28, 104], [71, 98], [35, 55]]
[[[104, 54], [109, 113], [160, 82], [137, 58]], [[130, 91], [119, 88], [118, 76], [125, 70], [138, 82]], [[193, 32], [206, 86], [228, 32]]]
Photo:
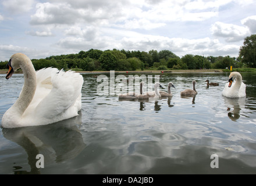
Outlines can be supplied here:
[[238, 56], [255, 0], [1, 0], [0, 60], [89, 49]]

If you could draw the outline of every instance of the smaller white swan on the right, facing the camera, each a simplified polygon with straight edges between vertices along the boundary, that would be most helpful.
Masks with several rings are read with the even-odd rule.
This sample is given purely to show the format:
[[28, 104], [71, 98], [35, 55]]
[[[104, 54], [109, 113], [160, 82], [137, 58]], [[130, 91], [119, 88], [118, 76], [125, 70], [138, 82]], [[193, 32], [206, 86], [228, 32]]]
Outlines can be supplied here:
[[229, 83], [225, 84], [222, 95], [228, 98], [243, 98], [246, 96], [246, 85], [242, 82], [239, 72], [233, 71], [229, 75]]

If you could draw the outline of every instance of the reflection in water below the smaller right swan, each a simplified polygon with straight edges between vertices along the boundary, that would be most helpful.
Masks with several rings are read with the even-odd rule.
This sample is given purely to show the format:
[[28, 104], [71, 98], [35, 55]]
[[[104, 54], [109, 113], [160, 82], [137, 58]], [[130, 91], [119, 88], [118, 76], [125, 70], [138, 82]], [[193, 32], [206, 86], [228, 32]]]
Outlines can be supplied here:
[[246, 98], [227, 98], [223, 96], [223, 99], [227, 110], [229, 111], [229, 113], [227, 113], [227, 116], [232, 121], [238, 120], [240, 118], [240, 111], [244, 107], [244, 104], [246, 102]]

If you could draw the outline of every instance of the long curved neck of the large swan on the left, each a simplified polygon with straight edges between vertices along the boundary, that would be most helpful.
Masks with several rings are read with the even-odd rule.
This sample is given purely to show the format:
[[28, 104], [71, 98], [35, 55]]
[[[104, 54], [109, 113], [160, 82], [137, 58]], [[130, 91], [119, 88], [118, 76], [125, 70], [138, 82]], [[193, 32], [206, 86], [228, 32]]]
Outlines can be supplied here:
[[24, 75], [24, 85], [19, 98], [13, 104], [12, 109], [15, 109], [17, 115], [22, 116], [33, 99], [35, 89], [37, 87], [37, 78], [31, 61], [21, 63], [20, 68]]

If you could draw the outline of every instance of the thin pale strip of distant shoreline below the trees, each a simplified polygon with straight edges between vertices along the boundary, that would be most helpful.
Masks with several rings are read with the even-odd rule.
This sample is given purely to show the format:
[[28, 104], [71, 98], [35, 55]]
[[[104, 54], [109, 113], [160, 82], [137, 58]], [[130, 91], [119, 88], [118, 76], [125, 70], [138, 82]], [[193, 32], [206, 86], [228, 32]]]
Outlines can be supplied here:
[[[76, 71], [77, 73], [109, 73], [109, 71]], [[198, 69], [198, 70], [138, 70], [138, 71], [115, 71], [115, 73], [222, 73], [219, 69]], [[0, 74], [7, 74], [8, 69], [1, 69]], [[22, 71], [16, 71], [22, 74]]]

